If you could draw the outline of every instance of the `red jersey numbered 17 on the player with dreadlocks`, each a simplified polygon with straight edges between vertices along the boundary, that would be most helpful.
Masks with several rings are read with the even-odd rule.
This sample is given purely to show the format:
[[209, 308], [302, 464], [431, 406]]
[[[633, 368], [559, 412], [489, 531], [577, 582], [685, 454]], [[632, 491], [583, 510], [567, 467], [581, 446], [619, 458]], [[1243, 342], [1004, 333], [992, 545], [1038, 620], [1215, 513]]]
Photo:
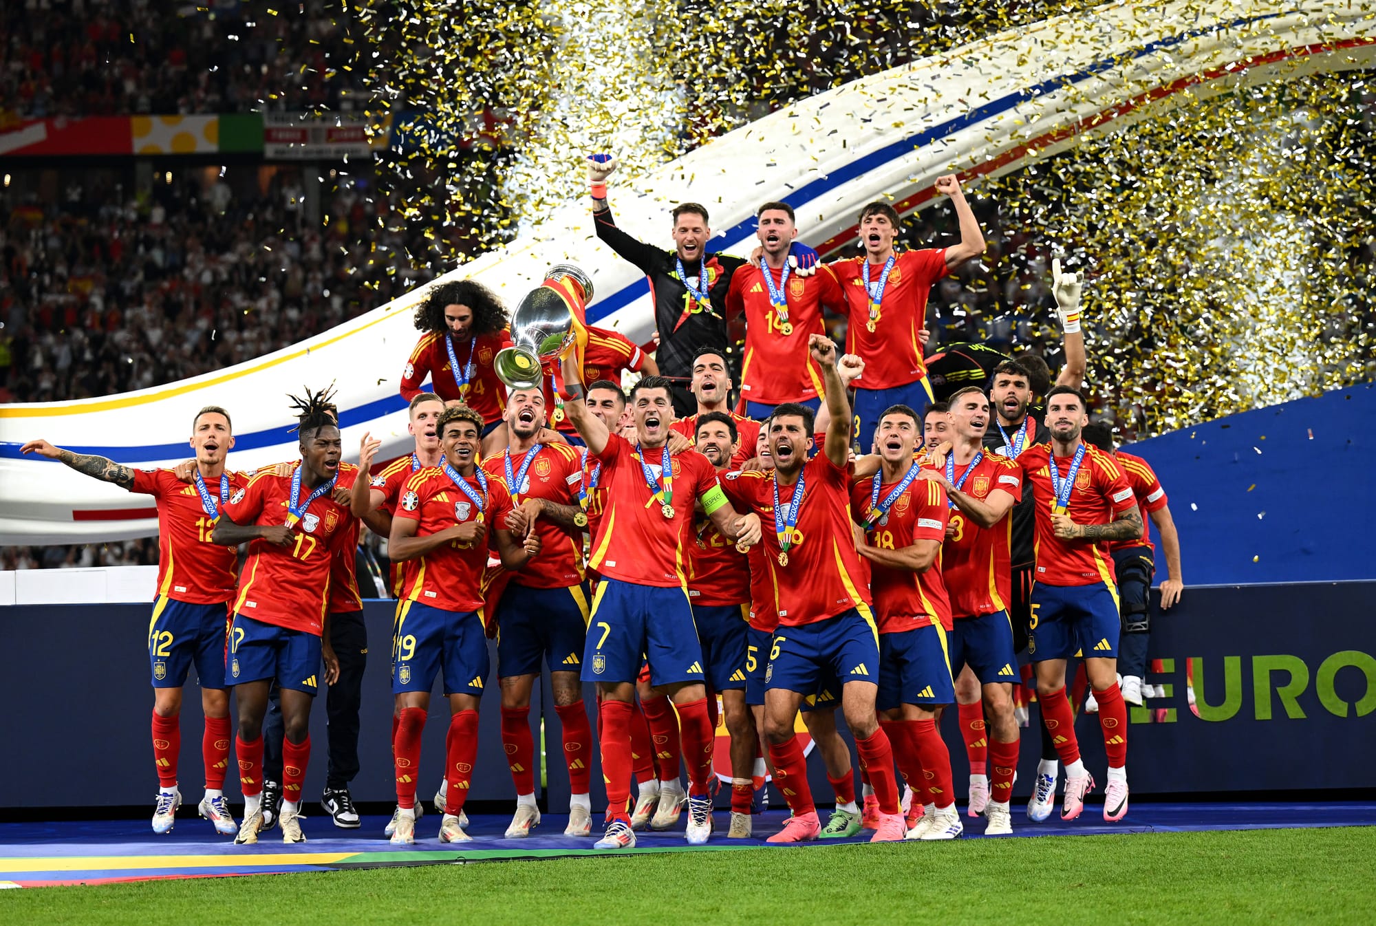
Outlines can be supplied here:
[[[290, 498], [292, 477], [264, 472], [235, 493], [223, 513], [235, 524], [285, 524]], [[303, 486], [301, 501], [307, 498]], [[326, 493], [292, 528], [296, 542], [290, 546], [263, 539], [249, 543], [234, 610], [263, 623], [321, 636], [334, 552], [348, 541], [354, 520], [348, 508]]]

